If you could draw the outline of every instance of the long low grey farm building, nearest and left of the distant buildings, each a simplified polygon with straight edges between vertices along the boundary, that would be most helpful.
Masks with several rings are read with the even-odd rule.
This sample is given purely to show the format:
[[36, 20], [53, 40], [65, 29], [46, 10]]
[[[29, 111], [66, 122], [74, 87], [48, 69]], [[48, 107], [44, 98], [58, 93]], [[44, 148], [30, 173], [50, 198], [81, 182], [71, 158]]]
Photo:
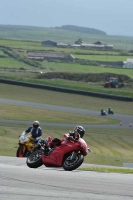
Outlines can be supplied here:
[[32, 60], [64, 60], [64, 61], [74, 61], [75, 57], [71, 54], [61, 54], [53, 52], [36, 52], [28, 51], [27, 57]]

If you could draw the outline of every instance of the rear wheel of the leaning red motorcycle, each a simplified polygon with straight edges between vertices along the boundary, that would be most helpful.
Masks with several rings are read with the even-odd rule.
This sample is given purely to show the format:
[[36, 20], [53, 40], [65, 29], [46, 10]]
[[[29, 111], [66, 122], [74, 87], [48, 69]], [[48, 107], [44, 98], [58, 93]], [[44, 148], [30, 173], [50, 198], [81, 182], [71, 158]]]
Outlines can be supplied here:
[[38, 168], [43, 165], [42, 162], [42, 150], [38, 149], [33, 151], [26, 160], [26, 164], [30, 168]]

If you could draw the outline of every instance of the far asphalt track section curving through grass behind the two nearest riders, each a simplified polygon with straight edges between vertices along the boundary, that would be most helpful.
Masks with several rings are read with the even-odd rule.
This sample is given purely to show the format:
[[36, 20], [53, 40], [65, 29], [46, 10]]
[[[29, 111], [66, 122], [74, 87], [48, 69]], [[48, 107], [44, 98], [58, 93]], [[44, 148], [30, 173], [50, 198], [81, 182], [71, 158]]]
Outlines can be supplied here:
[[[79, 108], [72, 108], [72, 107], [65, 107], [65, 106], [57, 106], [57, 105], [49, 105], [49, 104], [40, 104], [40, 103], [32, 103], [32, 102], [25, 102], [25, 101], [17, 101], [17, 100], [10, 100], [10, 99], [2, 99], [0, 98], [0, 104], [10, 104], [10, 105], [18, 105], [18, 106], [25, 106], [25, 107], [34, 107], [34, 108], [41, 108], [46, 110], [56, 110], [60, 112], [69, 112], [69, 113], [76, 113], [76, 114], [84, 114], [84, 115], [90, 115], [90, 116], [100, 116], [100, 111], [94, 111], [94, 110], [87, 110], [87, 109], [79, 109]], [[124, 114], [117, 114], [114, 115], [107, 115], [107, 116], [101, 116], [101, 117], [107, 117], [107, 118], [114, 118], [122, 121], [122, 126], [119, 124], [109, 124], [109, 125], [90, 125], [90, 124], [84, 124], [83, 126], [85, 128], [115, 128], [115, 129], [131, 129], [130, 123], [133, 124], [133, 116], [132, 115], [124, 115]], [[32, 124], [31, 121], [14, 121], [14, 120], [5, 120], [0, 119], [0, 122], [7, 122], [7, 123], [19, 123], [19, 124]], [[41, 122], [41, 125], [45, 126], [59, 126], [59, 127], [74, 127], [77, 124], [60, 124], [60, 123], [47, 123], [47, 122]], [[80, 124], [82, 125], [82, 124]]]

